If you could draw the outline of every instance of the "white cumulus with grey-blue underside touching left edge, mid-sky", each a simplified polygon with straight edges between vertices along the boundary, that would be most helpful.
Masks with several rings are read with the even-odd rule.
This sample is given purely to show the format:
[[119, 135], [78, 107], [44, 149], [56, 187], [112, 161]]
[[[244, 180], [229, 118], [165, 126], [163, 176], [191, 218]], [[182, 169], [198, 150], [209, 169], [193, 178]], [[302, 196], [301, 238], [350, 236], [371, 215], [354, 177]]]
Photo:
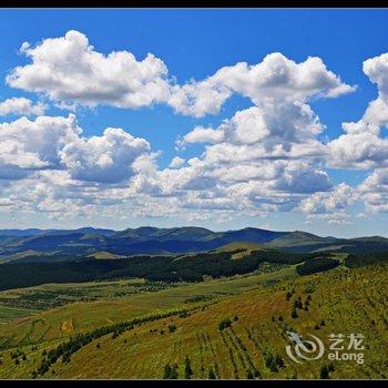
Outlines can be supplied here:
[[149, 152], [147, 141], [123, 129], [83, 137], [74, 114], [0, 123], [0, 177], [6, 180], [39, 170], [67, 170], [73, 180], [118, 183], [134, 175], [134, 162]]

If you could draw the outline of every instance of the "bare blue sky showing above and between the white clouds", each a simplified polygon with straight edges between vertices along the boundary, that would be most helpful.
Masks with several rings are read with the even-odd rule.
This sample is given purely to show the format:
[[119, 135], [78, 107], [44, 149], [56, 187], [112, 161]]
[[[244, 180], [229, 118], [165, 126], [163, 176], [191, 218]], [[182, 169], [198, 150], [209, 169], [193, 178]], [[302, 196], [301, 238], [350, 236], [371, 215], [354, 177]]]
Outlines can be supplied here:
[[[61, 98], [53, 96], [58, 89], [53, 92], [48, 86], [49, 83], [45, 83], [45, 86], [39, 86], [40, 90], [37, 91], [35, 81], [25, 81], [25, 79], [22, 79], [24, 75], [19, 76], [22, 86], [20, 84], [19, 86], [12, 85], [10, 82], [6, 82], [6, 76], [17, 67], [25, 67], [31, 63], [31, 57], [28, 58], [28, 55], [18, 51], [23, 42], [29, 42], [31, 47], [39, 47], [44, 39], [64, 37], [70, 30], [79, 31], [88, 37], [93, 50], [104, 55], [113, 51], [129, 51], [137, 61], [142, 61], [147, 53], [152, 53], [163, 61], [167, 68], [169, 79], [173, 79], [172, 82], [177, 85], [184, 85], [192, 79], [197, 82], [206, 80], [217, 70], [224, 67], [234, 67], [237, 62], [247, 62], [248, 65], [261, 63], [267, 54], [274, 52], [282, 53], [287, 60], [295, 63], [302, 63], [308, 57], [319, 57], [327, 70], [338, 76], [340, 82], [350, 86], [357, 85], [355, 91], [340, 93], [336, 98], [317, 98], [312, 94], [302, 99], [302, 103], [308, 104], [314, 113], [319, 116], [320, 123], [325, 125], [325, 129], [316, 135], [316, 139], [326, 144], [344, 134], [341, 123], [361, 120], [368, 104], [378, 99], [378, 90], [385, 88], [385, 84], [371, 82], [371, 75], [368, 76], [363, 71], [363, 62], [379, 58], [388, 51], [387, 21], [387, 10], [2, 10], [0, 12], [0, 34], [3, 37], [0, 47], [0, 74], [3, 82], [0, 83], [0, 103], [12, 98], [25, 98], [33, 103], [38, 101], [44, 103], [47, 106], [44, 110], [45, 116], [68, 116], [69, 112], [67, 110], [55, 106], [61, 100]], [[381, 72], [384, 71], [385, 69], [381, 70]], [[131, 76], [131, 74], [129, 75]], [[381, 79], [384, 79], [384, 74]], [[82, 127], [84, 139], [93, 135], [102, 136], [103, 130], [106, 127], [120, 127], [134, 137], [146, 140], [151, 152], [160, 152], [154, 161], [157, 164], [157, 171], [163, 171], [169, 167], [173, 157], [180, 156], [185, 161], [192, 157], [201, 159], [206, 146], [210, 146], [203, 142], [188, 142], [184, 147], [177, 150], [176, 140], [180, 136], [181, 139], [184, 137], [197, 126], [216, 130], [224, 120], [229, 120], [236, 112], [245, 111], [255, 104], [261, 106], [261, 102], [253, 103], [252, 98], [247, 96], [246, 93], [244, 95], [243, 92], [234, 91], [232, 94], [231, 98], [225, 99], [216, 113], [206, 112], [203, 116], [177, 112], [176, 106], [171, 103], [150, 103], [134, 109], [133, 106], [118, 108], [116, 103], [106, 102], [95, 103], [91, 106], [89, 103], [84, 103], [84, 100], [82, 102], [76, 99], [74, 99], [74, 102], [78, 106], [71, 114], [76, 116], [78, 125]], [[276, 104], [276, 101], [274, 100], [273, 103]], [[71, 101], [68, 99], [67, 102]], [[0, 116], [0, 122], [11, 123], [20, 116], [19, 112], [3, 114], [3, 116]], [[37, 118], [29, 116], [29, 120], [34, 121]], [[378, 124], [380, 127], [379, 139], [384, 141], [386, 139], [386, 123], [379, 121]], [[354, 141], [354, 137], [349, 140], [348, 144], [351, 141]], [[385, 144], [381, 147], [386, 150]], [[86, 206], [89, 200], [85, 200], [85, 188], [82, 183], [84, 180], [79, 178], [81, 175], [73, 174], [70, 169], [69, 172], [73, 174], [71, 176], [75, 181], [74, 184], [80, 184], [83, 187], [80, 188], [80, 193], [82, 193], [79, 194], [83, 197], [83, 205], [80, 203], [74, 205], [70, 194], [67, 196], [69, 202], [63, 203], [63, 197], [60, 198], [59, 192], [55, 192], [50, 194], [50, 206], [40, 205], [39, 201], [43, 203], [49, 201], [40, 196], [37, 198], [34, 207], [29, 207], [29, 211], [20, 214], [20, 208], [25, 210], [28, 207], [21, 204], [23, 200], [20, 198], [20, 192], [22, 191], [20, 185], [23, 184], [23, 190], [25, 187], [30, 190], [31, 185], [35, 185], [37, 182], [43, 180], [40, 176], [41, 171], [48, 173], [48, 170], [34, 167], [32, 170], [37, 176], [28, 175], [23, 180], [2, 180], [4, 183], [0, 186], [0, 190], [2, 190], [0, 197], [12, 197], [11, 201], [14, 201], [16, 204], [1, 206], [0, 215], [3, 227], [75, 227], [88, 224], [124, 228], [145, 224], [156, 226], [192, 224], [213, 229], [258, 226], [273, 229], [308, 229], [324, 235], [387, 235], [385, 227], [387, 211], [384, 206], [386, 192], [384, 190], [378, 193], [378, 206], [375, 204], [376, 201], [371, 200], [372, 195], [376, 194], [371, 188], [369, 193], [366, 193], [365, 190], [363, 192], [367, 200], [365, 197], [360, 198], [360, 196], [356, 198], [355, 195], [355, 201], [351, 203], [344, 204], [343, 200], [341, 203], [337, 204], [337, 207], [336, 205], [330, 205], [331, 207], [328, 205], [330, 208], [317, 208], [319, 207], [317, 206], [319, 201], [327, 200], [329, 203], [337, 201], [337, 197], [331, 198], [331, 201], [328, 196], [339, 184], [345, 183], [350, 188], [356, 188], [371, 174], [384, 174], [386, 165], [381, 161], [381, 153], [379, 155], [379, 161], [368, 156], [369, 159], [363, 162], [347, 160], [346, 163], [338, 162], [337, 164], [328, 162], [324, 166], [321, 161], [317, 162], [318, 164], [314, 165], [314, 169], [324, 171], [333, 186], [325, 188], [326, 194], [323, 194], [321, 197], [317, 195], [314, 197], [315, 207], [312, 205], [314, 208], [307, 206], [308, 195], [315, 193], [314, 190], [310, 190], [306, 197], [298, 197], [298, 200], [295, 200], [294, 192], [288, 193], [290, 196], [287, 198], [280, 193], [279, 195], [284, 201], [290, 201], [292, 203], [288, 206], [289, 210], [286, 206], [287, 211], [276, 208], [256, 212], [255, 205], [249, 203], [247, 211], [245, 211], [247, 207], [244, 207], [244, 205], [234, 211], [228, 207], [226, 213], [219, 213], [217, 206], [207, 208], [206, 205], [205, 211], [204, 206], [196, 207], [195, 205], [195, 211], [193, 211], [195, 214], [186, 217], [187, 208], [193, 210], [191, 206], [187, 207], [186, 201], [185, 205], [182, 205], [182, 203], [176, 205], [177, 211], [175, 213], [171, 214], [160, 210], [152, 214], [152, 212], [139, 211], [139, 206], [142, 207], [141, 205], [137, 205], [135, 210], [131, 207], [136, 201], [142, 202], [145, 207], [147, 206], [147, 200], [144, 195], [149, 195], [151, 188], [147, 190], [142, 186], [139, 193], [140, 196], [136, 198], [133, 196], [133, 192], [131, 192], [131, 195], [127, 194], [126, 200], [122, 200], [120, 203], [116, 198], [113, 205], [115, 206], [114, 211], [111, 213], [110, 205], [96, 204], [95, 197], [90, 200], [90, 206]], [[73, 160], [74, 154], [71, 157]], [[11, 163], [8, 161], [7, 164], [6, 162], [4, 166], [9, 167]], [[63, 167], [63, 163], [61, 161], [53, 169], [54, 173], [67, 170]], [[257, 166], [261, 162], [251, 161], [249, 163]], [[308, 163], [310, 163], [310, 160], [308, 160]], [[356, 167], [355, 163], [357, 163]], [[90, 167], [90, 164], [88, 166]], [[19, 167], [25, 170], [25, 166]], [[122, 167], [122, 164], [118, 165], [118, 169]], [[16, 167], [12, 165], [12, 169]], [[313, 169], [313, 166], [310, 165], [308, 169]], [[31, 171], [31, 167], [28, 167], [28, 170]], [[214, 166], [211, 166], [211, 170], [214, 171]], [[125, 175], [127, 178], [125, 182], [114, 182], [115, 187], [127, 187], [133, 176], [134, 174]], [[44, 177], [44, 180], [48, 180], [48, 177]], [[105, 178], [100, 181], [88, 180], [89, 183], [92, 182], [99, 187], [95, 188], [95, 190], [102, 187], [104, 196], [109, 196], [106, 193], [113, 186], [106, 183]], [[48, 183], [45, 182], [45, 184]], [[274, 184], [277, 185], [277, 183]], [[72, 183], [69, 187], [71, 185]], [[381, 188], [381, 184], [376, 183], [376, 185], [379, 190]], [[207, 192], [211, 192], [212, 187], [214, 186], [208, 186]], [[224, 190], [223, 184], [217, 187], [221, 191]], [[228, 185], [227, 190], [231, 187]], [[163, 190], [156, 194], [152, 193], [152, 201], [157, 207], [159, 201], [164, 201], [161, 198], [169, 196], [175, 200], [181, 198], [183, 195], [181, 190], [185, 188], [180, 187], [176, 192], [169, 194]], [[317, 187], [317, 192], [323, 191]], [[37, 195], [37, 188], [33, 193], [31, 195]], [[184, 192], [184, 195], [197, 195], [197, 193], [198, 191], [188, 194]], [[257, 194], [255, 195], [258, 203], [264, 201], [258, 198]], [[229, 202], [231, 198], [243, 203], [245, 201], [243, 197], [228, 196]], [[53, 205], [55, 201], [59, 207]], [[226, 198], [223, 201], [227, 202]], [[255, 201], [253, 202], [255, 203]], [[305, 201], [305, 212], [297, 211], [300, 210], [300, 201]], [[116, 214], [125, 213], [124, 208], [120, 208], [124, 202], [127, 202], [130, 206], [127, 208], [132, 208], [133, 213], [127, 217], [118, 218]], [[371, 206], [368, 207], [365, 203], [371, 204]], [[198, 205], [198, 202], [196, 204]], [[73, 212], [75, 216], [59, 210], [72, 205], [75, 206]], [[80, 207], [82, 206], [88, 207], [86, 215], [81, 214], [82, 208], [80, 210]], [[101, 206], [104, 212], [101, 212]], [[42, 208], [44, 210], [42, 211]], [[54, 212], [52, 212], [53, 208], [55, 208]], [[312, 213], [308, 213], [309, 211], [306, 208], [309, 208]], [[76, 215], [78, 212], [81, 212], [79, 216]], [[334, 219], [327, 215], [330, 212], [341, 213], [340, 219], [338, 217], [334, 217], [336, 218]], [[114, 216], [110, 216], [110, 214], [114, 214]], [[223, 221], [221, 222], [221, 219]]]

